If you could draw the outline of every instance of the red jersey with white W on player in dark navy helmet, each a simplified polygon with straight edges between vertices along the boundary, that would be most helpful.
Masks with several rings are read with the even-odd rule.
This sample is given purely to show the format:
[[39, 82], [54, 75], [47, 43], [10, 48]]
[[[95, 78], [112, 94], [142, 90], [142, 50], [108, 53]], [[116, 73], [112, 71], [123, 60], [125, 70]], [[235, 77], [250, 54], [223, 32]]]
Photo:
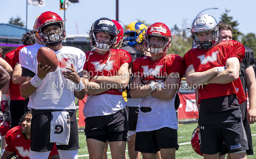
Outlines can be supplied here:
[[[93, 78], [97, 75], [115, 76], [117, 75], [117, 72], [122, 66], [122, 64], [129, 63], [130, 66], [132, 62], [131, 55], [127, 51], [122, 49], [111, 49], [111, 57], [108, 61], [108, 65], [106, 65], [106, 62], [110, 55], [109, 51], [104, 55], [100, 55], [95, 51], [87, 51], [85, 52], [85, 55], [86, 60], [88, 58], [89, 60], [85, 62], [83, 69], [89, 71], [90, 78]], [[112, 95], [122, 95], [122, 90], [111, 89], [103, 93]]]

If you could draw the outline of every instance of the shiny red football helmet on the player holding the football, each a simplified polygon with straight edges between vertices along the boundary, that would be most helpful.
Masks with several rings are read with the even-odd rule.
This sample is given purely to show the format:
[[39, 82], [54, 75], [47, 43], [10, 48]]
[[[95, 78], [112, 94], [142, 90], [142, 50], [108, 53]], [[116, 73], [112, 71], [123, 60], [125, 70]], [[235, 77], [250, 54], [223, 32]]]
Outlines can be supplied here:
[[[43, 34], [42, 28], [52, 24], [59, 24], [60, 29]], [[58, 14], [51, 11], [44, 12], [35, 22], [35, 32], [38, 34], [37, 37], [43, 44], [58, 42], [66, 38], [65, 20], [62, 20]]]

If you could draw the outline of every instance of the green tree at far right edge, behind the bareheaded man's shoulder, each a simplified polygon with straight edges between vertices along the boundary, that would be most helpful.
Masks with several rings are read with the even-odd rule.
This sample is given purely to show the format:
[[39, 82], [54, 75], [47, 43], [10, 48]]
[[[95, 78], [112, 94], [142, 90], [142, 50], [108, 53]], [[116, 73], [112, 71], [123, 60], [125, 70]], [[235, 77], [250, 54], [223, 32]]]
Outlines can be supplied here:
[[254, 57], [256, 57], [256, 36], [254, 33], [248, 33], [247, 35], [244, 35], [241, 43], [251, 48], [254, 53]]

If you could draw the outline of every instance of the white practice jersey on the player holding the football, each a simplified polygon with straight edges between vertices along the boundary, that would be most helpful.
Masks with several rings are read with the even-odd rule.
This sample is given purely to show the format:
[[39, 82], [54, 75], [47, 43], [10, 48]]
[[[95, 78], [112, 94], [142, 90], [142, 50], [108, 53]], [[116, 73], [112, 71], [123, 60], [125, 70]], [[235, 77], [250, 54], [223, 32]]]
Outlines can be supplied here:
[[[37, 51], [41, 47], [46, 46], [38, 44], [22, 48], [19, 53], [21, 67], [37, 73]], [[30, 96], [28, 107], [39, 110], [76, 109], [74, 82], [64, 78], [61, 71], [70, 71], [65, 67], [71, 67], [72, 63], [78, 73], [83, 71], [85, 53], [78, 48], [68, 46], [63, 46], [63, 48], [54, 52], [59, 61], [58, 68], [46, 75], [37, 90]]]

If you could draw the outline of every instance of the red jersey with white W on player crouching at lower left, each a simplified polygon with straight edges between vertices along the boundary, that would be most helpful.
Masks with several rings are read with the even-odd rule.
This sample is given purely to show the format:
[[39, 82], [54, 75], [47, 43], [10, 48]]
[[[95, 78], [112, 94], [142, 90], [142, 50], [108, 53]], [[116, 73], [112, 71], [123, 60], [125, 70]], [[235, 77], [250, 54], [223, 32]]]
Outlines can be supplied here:
[[[30, 140], [27, 140], [21, 132], [21, 126], [15, 126], [6, 133], [6, 150], [19, 155], [21, 159], [30, 159]], [[58, 154], [56, 144], [52, 148], [50, 155]]]

